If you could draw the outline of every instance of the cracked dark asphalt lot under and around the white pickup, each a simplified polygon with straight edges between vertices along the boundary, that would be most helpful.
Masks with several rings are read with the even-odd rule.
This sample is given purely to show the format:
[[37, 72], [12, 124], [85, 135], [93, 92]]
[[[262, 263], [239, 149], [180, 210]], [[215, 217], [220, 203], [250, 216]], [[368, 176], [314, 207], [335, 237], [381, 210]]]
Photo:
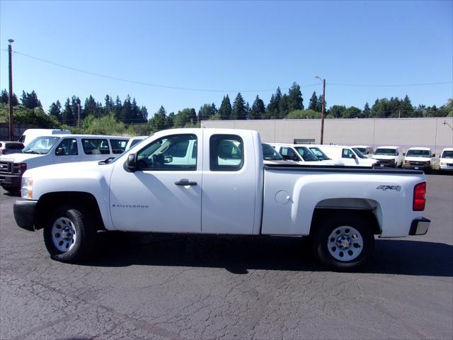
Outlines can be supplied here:
[[291, 237], [100, 233], [59, 263], [0, 189], [0, 339], [452, 339], [453, 176], [427, 179], [428, 234], [377, 239], [361, 273]]

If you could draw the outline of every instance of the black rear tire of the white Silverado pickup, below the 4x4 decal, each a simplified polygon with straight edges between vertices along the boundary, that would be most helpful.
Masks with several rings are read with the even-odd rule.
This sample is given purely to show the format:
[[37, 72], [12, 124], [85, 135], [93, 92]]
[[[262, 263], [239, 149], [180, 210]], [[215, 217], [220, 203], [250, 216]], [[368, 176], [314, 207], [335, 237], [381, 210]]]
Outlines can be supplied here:
[[[337, 235], [333, 232], [335, 230], [338, 232], [341, 228], [343, 228], [343, 226], [345, 227], [344, 229], [346, 232], [353, 229], [355, 229], [355, 231], [350, 235], [345, 234], [345, 236], [343, 236], [342, 232], [340, 232], [340, 234], [338, 234], [338, 238], [336, 239]], [[312, 237], [314, 253], [324, 266], [333, 269], [333, 271], [357, 271], [359, 268], [364, 266], [372, 256], [374, 250], [372, 225], [370, 225], [367, 219], [358, 213], [338, 212], [330, 215], [329, 217], [323, 218], [319, 224], [314, 227], [316, 228]], [[348, 227], [352, 227], [352, 229], [348, 229]], [[331, 235], [332, 233], [334, 236]], [[352, 239], [352, 237], [357, 237], [357, 233], [359, 234], [358, 236], [361, 237], [361, 242], [358, 244], [354, 242], [354, 239]], [[350, 247], [343, 250], [340, 246], [338, 246], [340, 236], [346, 238], [346, 243], [350, 242]], [[348, 237], [350, 237], [349, 241]], [[332, 242], [335, 242], [335, 244]], [[331, 246], [331, 250], [329, 250], [329, 246]], [[341, 244], [341, 246], [344, 246], [344, 244]], [[336, 253], [333, 251], [334, 248], [336, 248]], [[350, 254], [348, 254], [348, 251], [350, 251]], [[336, 254], [337, 258], [334, 257], [331, 252]], [[352, 256], [352, 259], [338, 259], [340, 256]]]

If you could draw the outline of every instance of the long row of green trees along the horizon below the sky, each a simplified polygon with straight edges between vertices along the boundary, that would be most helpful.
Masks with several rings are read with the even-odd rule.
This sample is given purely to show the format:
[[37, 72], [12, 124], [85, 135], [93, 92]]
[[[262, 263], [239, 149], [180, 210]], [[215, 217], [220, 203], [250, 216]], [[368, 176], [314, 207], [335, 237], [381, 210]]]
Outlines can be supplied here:
[[[250, 106], [239, 93], [232, 103], [228, 95], [224, 96], [219, 108], [214, 103], [205, 103], [198, 111], [195, 111], [195, 108], [184, 108], [178, 113], [167, 113], [164, 106], [161, 106], [150, 119], [148, 119], [147, 108], [138, 106], [135, 98], [131, 99], [129, 95], [125, 101], [121, 101], [119, 96], [113, 100], [113, 97], [106, 95], [104, 104], [96, 101], [90, 95], [85, 99], [84, 105], [81, 104], [78, 96], [72, 96], [67, 98], [64, 104], [59, 101], [52, 103], [47, 113], [43, 110], [35, 91], [30, 93], [23, 91], [20, 101], [13, 94], [12, 103], [17, 123], [35, 124], [42, 128], [64, 126], [72, 128], [72, 130], [80, 123], [79, 132], [86, 132], [87, 127], [92, 123], [103, 122], [110, 126], [112, 124], [107, 122], [113, 121], [120, 123], [120, 125], [115, 125], [116, 129], [120, 129], [118, 126], [124, 128], [126, 125], [130, 125], [131, 129], [137, 133], [147, 134], [149, 130], [198, 126], [201, 120], [321, 118], [322, 98], [313, 92], [308, 108], [304, 108], [302, 91], [300, 86], [294, 82], [285, 94], [282, 94], [278, 87], [267, 105], [257, 95]], [[0, 120], [8, 120], [5, 113], [7, 104], [8, 92], [3, 90], [0, 95], [0, 108], [2, 109]], [[371, 107], [369, 103], [365, 103], [362, 109], [355, 106], [333, 105], [326, 110], [326, 118], [406, 118], [445, 117], [447, 115], [453, 116], [451, 99], [449, 99], [449, 103], [440, 108], [424, 105], [415, 107], [408, 96], [403, 99], [398, 97], [377, 99]], [[105, 119], [102, 120], [102, 118]], [[98, 128], [99, 126], [102, 124], [98, 124]]]

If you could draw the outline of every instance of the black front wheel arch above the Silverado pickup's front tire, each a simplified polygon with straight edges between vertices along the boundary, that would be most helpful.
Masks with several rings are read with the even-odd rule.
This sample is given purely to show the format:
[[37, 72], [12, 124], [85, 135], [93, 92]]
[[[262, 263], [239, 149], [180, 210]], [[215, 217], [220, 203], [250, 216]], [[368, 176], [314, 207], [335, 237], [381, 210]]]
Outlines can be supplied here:
[[42, 195], [36, 204], [34, 218], [35, 229], [38, 230], [45, 227], [45, 221], [50, 212], [60, 205], [76, 205], [84, 208], [92, 214], [93, 225], [96, 225], [96, 229], [105, 230], [98, 201], [91, 193], [80, 191], [59, 191]]

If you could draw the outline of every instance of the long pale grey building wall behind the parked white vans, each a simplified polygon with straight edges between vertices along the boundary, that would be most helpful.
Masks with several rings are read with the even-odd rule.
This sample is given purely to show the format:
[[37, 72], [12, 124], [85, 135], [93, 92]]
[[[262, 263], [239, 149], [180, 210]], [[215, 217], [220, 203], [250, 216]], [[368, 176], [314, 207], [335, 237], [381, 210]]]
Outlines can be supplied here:
[[[324, 144], [396, 145], [430, 147], [440, 153], [453, 147], [453, 118], [369, 118], [324, 120]], [[294, 139], [314, 139], [320, 142], [320, 119], [281, 120], [202, 120], [205, 128], [235, 128], [257, 130], [263, 142], [293, 143]]]

